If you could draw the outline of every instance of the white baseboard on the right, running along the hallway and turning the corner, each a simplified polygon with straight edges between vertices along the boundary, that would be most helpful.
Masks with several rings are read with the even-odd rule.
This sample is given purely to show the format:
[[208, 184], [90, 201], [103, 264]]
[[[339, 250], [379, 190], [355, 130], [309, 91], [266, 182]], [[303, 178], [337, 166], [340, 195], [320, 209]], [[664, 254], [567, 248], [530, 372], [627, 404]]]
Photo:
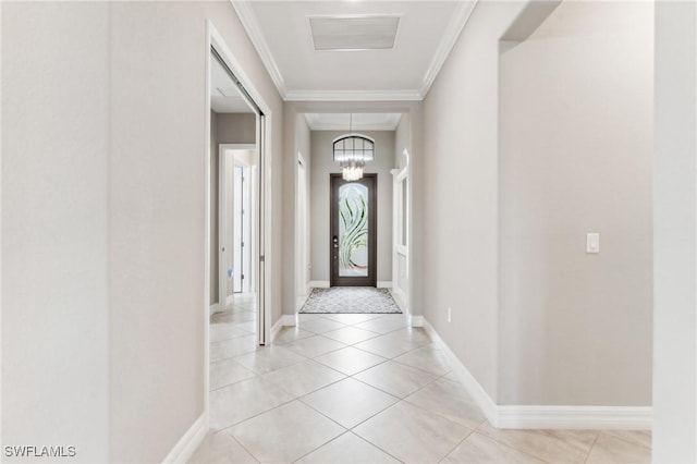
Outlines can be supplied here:
[[[489, 423], [497, 428], [521, 429], [624, 429], [650, 430], [650, 406], [540, 406], [498, 405], [469, 373], [433, 327], [421, 316], [424, 329], [448, 356], [453, 373], [477, 403]], [[412, 323], [415, 326], [414, 322]]]

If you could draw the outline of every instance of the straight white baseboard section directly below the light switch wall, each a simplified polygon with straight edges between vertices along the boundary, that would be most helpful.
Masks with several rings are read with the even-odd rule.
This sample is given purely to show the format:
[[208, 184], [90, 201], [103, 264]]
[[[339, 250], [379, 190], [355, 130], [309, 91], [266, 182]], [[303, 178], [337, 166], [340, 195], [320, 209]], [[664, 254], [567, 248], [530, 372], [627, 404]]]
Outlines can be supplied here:
[[650, 430], [650, 406], [499, 406], [499, 428]]

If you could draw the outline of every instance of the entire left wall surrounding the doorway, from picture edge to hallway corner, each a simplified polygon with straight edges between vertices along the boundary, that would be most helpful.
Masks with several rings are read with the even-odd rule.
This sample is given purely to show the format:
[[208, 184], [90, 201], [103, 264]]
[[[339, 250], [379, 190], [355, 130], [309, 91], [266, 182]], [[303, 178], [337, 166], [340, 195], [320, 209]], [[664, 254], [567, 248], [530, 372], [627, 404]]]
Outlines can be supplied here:
[[207, 19], [276, 149], [281, 100], [230, 3], [2, 9], [3, 444], [161, 461], [204, 412]]

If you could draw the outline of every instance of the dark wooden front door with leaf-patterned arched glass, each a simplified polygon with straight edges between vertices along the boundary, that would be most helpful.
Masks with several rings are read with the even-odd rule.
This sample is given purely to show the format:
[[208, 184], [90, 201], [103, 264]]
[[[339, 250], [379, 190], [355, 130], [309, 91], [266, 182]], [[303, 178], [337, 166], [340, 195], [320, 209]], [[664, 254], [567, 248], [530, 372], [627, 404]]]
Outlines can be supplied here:
[[331, 175], [331, 286], [376, 286], [378, 174]]

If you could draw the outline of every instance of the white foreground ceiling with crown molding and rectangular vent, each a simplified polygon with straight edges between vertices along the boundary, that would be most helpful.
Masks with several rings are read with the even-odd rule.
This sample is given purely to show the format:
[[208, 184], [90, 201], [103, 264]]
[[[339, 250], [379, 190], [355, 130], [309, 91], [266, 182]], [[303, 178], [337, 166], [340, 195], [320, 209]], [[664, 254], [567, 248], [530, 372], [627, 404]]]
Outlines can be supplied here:
[[[279, 93], [290, 101], [423, 99], [475, 3], [233, 1]], [[344, 44], [352, 50], [326, 49]]]

